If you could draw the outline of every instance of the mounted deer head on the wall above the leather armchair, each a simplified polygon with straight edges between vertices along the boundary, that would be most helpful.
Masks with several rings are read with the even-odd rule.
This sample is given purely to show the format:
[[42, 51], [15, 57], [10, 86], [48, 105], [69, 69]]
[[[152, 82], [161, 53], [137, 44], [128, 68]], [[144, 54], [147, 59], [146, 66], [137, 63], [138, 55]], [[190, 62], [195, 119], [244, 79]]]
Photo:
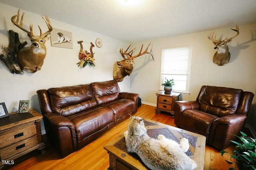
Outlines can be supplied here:
[[[232, 28], [231, 28], [232, 29]], [[236, 35], [229, 38], [226, 37], [224, 40], [218, 40], [216, 39], [216, 35], [213, 38], [214, 32], [210, 35], [208, 35], [208, 39], [212, 40], [212, 43], [215, 45], [214, 49], [217, 49], [217, 52], [213, 56], [213, 63], [217, 64], [218, 66], [223, 66], [224, 64], [227, 64], [230, 60], [230, 52], [228, 51], [228, 43], [232, 41], [234, 37], [236, 37], [239, 34], [239, 28], [236, 25], [236, 29], [232, 29], [233, 31], [236, 31]]]

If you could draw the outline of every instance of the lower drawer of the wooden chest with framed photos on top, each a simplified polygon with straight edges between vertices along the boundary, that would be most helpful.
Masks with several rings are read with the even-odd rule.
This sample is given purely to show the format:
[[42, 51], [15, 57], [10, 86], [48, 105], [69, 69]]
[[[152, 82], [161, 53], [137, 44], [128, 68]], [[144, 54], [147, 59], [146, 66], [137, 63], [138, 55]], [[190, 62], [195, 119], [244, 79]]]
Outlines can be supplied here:
[[38, 144], [37, 136], [28, 138], [24, 141], [20, 141], [14, 145], [6, 147], [4, 149], [0, 149], [0, 156], [2, 160], [9, 158], [19, 152], [22, 152], [26, 149], [30, 149]]

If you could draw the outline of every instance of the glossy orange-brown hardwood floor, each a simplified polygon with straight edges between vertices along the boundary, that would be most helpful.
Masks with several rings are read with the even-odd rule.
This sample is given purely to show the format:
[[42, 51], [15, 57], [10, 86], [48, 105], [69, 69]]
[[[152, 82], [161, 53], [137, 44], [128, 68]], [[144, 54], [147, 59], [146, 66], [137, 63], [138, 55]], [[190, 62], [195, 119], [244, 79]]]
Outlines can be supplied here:
[[[152, 119], [167, 125], [175, 126], [174, 119], [170, 115], [163, 113], [155, 114], [154, 106], [142, 104], [138, 107], [135, 116], [142, 118]], [[110, 131], [106, 132], [102, 137], [96, 141], [88, 144], [84, 148], [73, 152], [65, 158], [60, 158], [58, 153], [48, 145], [46, 141], [46, 153], [40, 154], [39, 150], [30, 152], [16, 160], [14, 165], [4, 166], [2, 169], [10, 170], [107, 170], [109, 167], [109, 156], [103, 146], [111, 141], [111, 139], [127, 130], [128, 119], [118, 124]], [[226, 150], [232, 150], [234, 146], [227, 148]], [[224, 157], [228, 159], [227, 157]], [[228, 170], [230, 166], [221, 157], [220, 152], [206, 146], [204, 156], [204, 170]]]

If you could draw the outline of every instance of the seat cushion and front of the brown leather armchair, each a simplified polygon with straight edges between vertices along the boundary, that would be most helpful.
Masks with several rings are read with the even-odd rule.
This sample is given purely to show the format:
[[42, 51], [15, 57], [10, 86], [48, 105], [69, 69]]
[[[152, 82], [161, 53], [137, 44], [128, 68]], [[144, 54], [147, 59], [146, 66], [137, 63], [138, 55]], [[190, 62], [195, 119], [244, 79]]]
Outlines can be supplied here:
[[183, 125], [192, 131], [204, 135], [206, 139], [209, 136], [212, 122], [218, 119], [218, 116], [204, 113], [199, 110], [184, 110], [182, 112]]

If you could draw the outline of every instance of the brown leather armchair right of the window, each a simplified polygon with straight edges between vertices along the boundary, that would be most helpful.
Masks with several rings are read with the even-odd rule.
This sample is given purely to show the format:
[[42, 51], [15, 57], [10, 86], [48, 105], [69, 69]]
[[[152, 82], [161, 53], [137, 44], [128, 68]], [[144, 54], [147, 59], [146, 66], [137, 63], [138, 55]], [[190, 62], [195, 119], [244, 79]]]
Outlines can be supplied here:
[[242, 131], [253, 97], [252, 92], [240, 89], [202, 86], [196, 101], [175, 103], [174, 123], [204, 135], [207, 145], [224, 150]]

